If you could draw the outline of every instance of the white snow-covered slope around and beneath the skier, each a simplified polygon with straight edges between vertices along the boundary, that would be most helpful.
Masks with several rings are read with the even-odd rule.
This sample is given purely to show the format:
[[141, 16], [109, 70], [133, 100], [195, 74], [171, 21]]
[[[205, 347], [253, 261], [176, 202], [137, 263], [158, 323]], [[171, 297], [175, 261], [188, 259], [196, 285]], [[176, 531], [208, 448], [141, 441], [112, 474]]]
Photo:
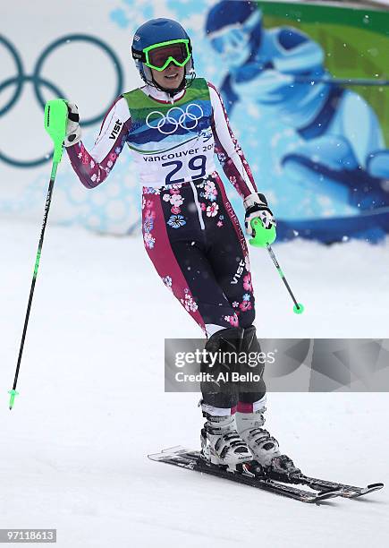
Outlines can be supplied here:
[[[165, 394], [163, 364], [164, 338], [200, 331], [140, 238], [47, 227], [10, 412], [38, 232], [0, 220], [0, 528], [56, 527], [61, 548], [387, 545], [387, 488], [310, 506], [148, 460], [199, 446], [199, 397]], [[266, 252], [253, 249], [259, 336], [387, 337], [388, 251], [389, 242], [277, 245], [306, 306], [295, 316]], [[387, 483], [385, 393], [271, 394], [268, 407], [267, 426], [307, 473]]]

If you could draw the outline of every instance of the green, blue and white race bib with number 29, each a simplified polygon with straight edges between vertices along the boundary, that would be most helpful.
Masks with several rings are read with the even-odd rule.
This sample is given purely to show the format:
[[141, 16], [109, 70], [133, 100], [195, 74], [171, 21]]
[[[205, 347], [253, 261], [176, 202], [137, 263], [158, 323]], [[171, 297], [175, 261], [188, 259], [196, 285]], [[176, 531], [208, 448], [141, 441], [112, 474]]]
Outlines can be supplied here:
[[144, 186], [179, 184], [215, 171], [207, 81], [195, 79], [173, 105], [141, 90], [123, 94], [131, 113], [128, 143]]

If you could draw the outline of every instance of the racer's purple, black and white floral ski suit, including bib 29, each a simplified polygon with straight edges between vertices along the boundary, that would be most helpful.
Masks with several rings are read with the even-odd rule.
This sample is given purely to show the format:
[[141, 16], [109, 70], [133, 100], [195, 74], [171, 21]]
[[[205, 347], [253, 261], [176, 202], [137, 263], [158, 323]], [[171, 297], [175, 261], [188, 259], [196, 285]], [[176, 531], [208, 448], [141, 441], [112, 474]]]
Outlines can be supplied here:
[[[80, 182], [103, 183], [126, 142], [143, 187], [144, 245], [165, 286], [207, 337], [228, 328], [255, 332], [248, 248], [215, 152], [243, 199], [257, 187], [215, 86], [196, 78], [173, 98], [150, 85], [123, 93], [90, 152], [82, 141], [67, 148]], [[203, 390], [203, 405], [216, 415], [251, 412], [265, 392], [263, 381], [240, 399], [207, 398]]]

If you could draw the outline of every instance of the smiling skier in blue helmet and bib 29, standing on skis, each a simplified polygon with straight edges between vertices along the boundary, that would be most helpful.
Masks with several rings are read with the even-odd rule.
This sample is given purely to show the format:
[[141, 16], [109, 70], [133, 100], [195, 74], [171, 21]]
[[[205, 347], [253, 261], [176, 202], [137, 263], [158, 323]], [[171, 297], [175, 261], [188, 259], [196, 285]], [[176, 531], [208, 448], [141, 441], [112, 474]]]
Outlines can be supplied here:
[[[87, 188], [103, 183], [127, 143], [143, 186], [142, 227], [146, 251], [166, 287], [207, 336], [206, 350], [249, 355], [260, 352], [254, 321], [254, 294], [245, 237], [214, 153], [244, 201], [246, 232], [260, 218], [275, 223], [263, 194], [229, 126], [216, 87], [196, 78], [190, 38], [169, 19], [140, 26], [132, 57], [145, 85], [114, 101], [89, 152], [80, 141], [78, 109], [70, 115], [64, 142], [74, 171]], [[202, 364], [203, 372], [209, 372]], [[213, 372], [223, 371], [223, 357]], [[230, 371], [239, 370], [237, 360]], [[291, 468], [278, 443], [262, 428], [266, 387], [260, 381], [201, 384], [207, 419], [201, 431], [202, 456], [234, 467], [253, 457], [273, 470]]]

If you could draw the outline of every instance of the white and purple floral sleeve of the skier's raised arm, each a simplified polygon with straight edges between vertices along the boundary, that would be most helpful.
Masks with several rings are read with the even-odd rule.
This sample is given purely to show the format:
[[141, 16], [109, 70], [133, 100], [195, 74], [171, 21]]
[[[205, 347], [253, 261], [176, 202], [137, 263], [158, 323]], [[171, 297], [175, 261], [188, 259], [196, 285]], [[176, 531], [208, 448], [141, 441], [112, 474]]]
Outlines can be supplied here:
[[131, 117], [127, 102], [119, 97], [108, 110], [90, 152], [82, 141], [66, 148], [72, 168], [84, 186], [94, 188], [105, 181], [123, 150], [130, 128]]

